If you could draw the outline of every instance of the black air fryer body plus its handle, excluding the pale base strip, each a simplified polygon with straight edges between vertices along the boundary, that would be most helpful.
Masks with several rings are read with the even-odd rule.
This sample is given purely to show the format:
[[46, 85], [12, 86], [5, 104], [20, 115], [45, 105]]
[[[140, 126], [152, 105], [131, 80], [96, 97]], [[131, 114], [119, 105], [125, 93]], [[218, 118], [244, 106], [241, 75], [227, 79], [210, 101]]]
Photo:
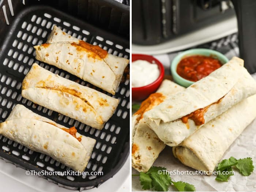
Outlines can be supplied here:
[[132, 43], [156, 45], [234, 15], [240, 57], [256, 72], [255, 0], [136, 0], [132, 2]]

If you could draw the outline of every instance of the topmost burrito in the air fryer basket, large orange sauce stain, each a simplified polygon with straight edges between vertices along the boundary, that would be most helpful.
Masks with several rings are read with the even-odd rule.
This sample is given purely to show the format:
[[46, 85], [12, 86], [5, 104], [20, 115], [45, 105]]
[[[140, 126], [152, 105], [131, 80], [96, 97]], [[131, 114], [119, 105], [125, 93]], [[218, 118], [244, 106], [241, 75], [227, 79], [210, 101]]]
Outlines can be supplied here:
[[115, 94], [129, 60], [117, 57], [53, 27], [47, 42], [34, 46], [35, 58]]

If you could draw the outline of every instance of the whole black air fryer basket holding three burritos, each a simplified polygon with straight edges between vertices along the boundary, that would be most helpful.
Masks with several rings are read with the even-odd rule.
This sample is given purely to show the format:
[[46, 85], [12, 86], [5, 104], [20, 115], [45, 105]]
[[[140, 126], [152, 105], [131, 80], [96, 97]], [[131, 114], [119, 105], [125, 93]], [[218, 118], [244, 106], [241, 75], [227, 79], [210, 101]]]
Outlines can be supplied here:
[[[103, 176], [43, 176], [61, 187], [82, 191], [98, 187], [113, 177], [128, 157], [129, 66], [113, 96], [120, 101], [118, 108], [101, 131], [35, 105], [21, 96], [22, 80], [33, 63], [111, 95], [66, 71], [35, 59], [33, 46], [45, 42], [54, 25], [73, 37], [101, 46], [108, 53], [129, 59], [129, 6], [114, 0], [0, 0], [0, 122], [19, 103], [56, 123], [66, 127], [75, 126], [80, 134], [96, 139], [85, 171], [103, 172]], [[0, 157], [26, 170], [69, 170], [49, 156], [29, 150], [2, 135]]]

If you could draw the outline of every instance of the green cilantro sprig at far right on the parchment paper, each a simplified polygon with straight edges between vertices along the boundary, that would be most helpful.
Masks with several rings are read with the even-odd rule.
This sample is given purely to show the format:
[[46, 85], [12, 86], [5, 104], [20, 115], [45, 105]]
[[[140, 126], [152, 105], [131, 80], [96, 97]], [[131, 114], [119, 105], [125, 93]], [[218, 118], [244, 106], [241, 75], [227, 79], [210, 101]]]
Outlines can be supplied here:
[[251, 157], [238, 160], [234, 157], [230, 157], [229, 159], [223, 159], [218, 164], [216, 168], [218, 174], [215, 180], [227, 182], [228, 178], [234, 175], [233, 167], [236, 167], [243, 176], [249, 176], [254, 169]]

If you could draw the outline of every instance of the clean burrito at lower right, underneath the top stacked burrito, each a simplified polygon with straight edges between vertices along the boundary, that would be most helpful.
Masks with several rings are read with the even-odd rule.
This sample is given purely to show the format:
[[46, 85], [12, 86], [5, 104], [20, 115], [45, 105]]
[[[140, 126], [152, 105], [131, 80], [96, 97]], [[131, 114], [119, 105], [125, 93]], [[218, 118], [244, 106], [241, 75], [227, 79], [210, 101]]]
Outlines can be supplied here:
[[173, 147], [173, 154], [184, 165], [197, 170], [213, 171], [225, 151], [255, 117], [256, 95], [253, 95]]

